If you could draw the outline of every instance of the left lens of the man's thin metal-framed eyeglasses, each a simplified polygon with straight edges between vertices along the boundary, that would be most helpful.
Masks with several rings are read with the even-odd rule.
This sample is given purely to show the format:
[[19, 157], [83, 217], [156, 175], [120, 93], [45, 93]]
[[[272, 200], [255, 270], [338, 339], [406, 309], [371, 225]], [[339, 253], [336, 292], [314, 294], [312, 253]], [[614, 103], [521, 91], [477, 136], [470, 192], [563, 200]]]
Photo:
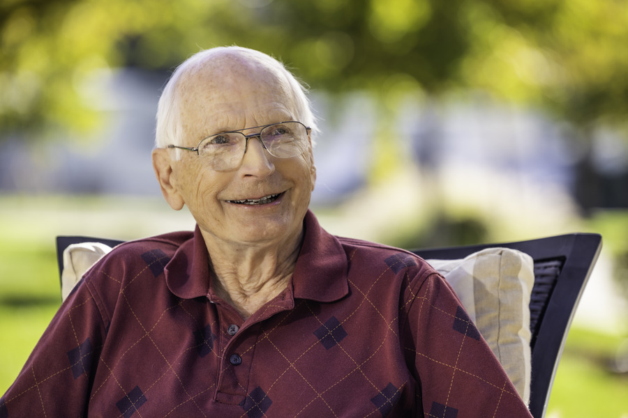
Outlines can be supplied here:
[[205, 138], [198, 146], [198, 153], [206, 157], [214, 170], [236, 167], [244, 155], [244, 134], [226, 132]]

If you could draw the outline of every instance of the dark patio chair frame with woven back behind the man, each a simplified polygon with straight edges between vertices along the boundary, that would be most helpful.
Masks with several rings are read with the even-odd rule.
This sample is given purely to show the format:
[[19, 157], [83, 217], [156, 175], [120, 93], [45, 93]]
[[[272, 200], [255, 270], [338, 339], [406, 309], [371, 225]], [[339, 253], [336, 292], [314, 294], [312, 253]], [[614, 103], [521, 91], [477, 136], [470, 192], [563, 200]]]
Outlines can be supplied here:
[[[81, 242], [101, 242], [113, 247], [122, 241], [81, 236], [57, 237], [59, 277], [63, 271], [63, 250]], [[521, 242], [414, 249], [412, 252], [426, 259], [453, 260], [491, 247], [517, 249], [534, 260], [534, 286], [530, 297], [530, 412], [534, 418], [542, 418], [571, 320], [601, 250], [601, 235], [573, 233]]]

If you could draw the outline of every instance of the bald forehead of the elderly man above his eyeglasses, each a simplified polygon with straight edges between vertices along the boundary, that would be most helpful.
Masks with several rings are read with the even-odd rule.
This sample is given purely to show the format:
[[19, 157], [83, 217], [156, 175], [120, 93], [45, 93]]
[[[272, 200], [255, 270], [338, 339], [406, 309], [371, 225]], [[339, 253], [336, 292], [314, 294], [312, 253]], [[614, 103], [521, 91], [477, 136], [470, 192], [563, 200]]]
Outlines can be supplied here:
[[285, 75], [246, 57], [218, 56], [199, 63], [182, 77], [178, 90], [186, 136], [296, 117]]

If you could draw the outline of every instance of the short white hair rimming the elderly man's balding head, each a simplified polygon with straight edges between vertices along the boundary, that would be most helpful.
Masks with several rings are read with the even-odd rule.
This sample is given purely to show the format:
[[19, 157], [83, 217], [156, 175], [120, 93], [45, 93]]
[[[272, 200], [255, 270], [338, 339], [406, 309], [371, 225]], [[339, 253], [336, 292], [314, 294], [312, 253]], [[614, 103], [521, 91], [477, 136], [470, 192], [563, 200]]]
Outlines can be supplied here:
[[161, 93], [161, 97], [159, 98], [157, 105], [157, 125], [155, 132], [155, 146], [157, 148], [165, 148], [169, 144], [182, 144], [180, 137], [182, 129], [179, 83], [185, 75], [200, 69], [207, 63], [207, 61], [211, 60], [212, 56], [219, 52], [234, 52], [246, 57], [246, 59], [262, 64], [265, 68], [273, 70], [278, 75], [282, 75], [285, 78], [285, 81], [287, 82], [294, 98], [294, 104], [296, 107], [294, 110], [297, 112], [299, 121], [304, 123], [307, 127], [311, 127], [314, 134], [318, 132], [316, 118], [311, 109], [306, 86], [301, 84], [301, 82], [294, 77], [292, 72], [285, 68], [283, 63], [267, 54], [264, 54], [263, 52], [256, 51], [255, 49], [236, 46], [216, 47], [204, 49], [203, 51], [190, 56], [190, 58], [181, 63], [181, 65], [174, 70], [172, 76], [163, 88], [163, 92]]

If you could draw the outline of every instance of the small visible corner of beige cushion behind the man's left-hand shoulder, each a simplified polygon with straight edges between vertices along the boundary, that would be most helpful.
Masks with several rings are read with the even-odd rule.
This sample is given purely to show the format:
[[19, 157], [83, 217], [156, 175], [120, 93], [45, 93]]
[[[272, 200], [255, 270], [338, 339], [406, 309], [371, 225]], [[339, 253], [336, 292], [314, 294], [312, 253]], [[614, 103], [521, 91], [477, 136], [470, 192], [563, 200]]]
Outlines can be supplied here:
[[63, 271], [61, 272], [61, 297], [63, 300], [66, 300], [66, 297], [70, 295], [83, 274], [109, 251], [111, 251], [111, 247], [100, 242], [70, 244], [63, 250]]

